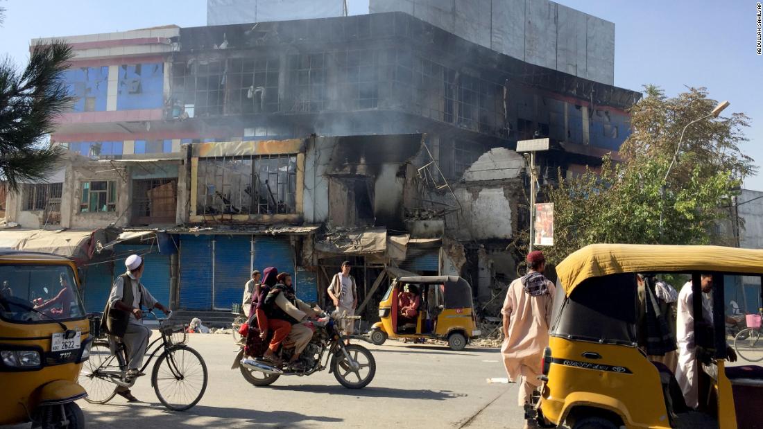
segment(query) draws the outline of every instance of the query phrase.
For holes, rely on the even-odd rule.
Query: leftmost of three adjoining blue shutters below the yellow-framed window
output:
[[[182,309],[212,308],[211,235],[181,236],[179,293]]]

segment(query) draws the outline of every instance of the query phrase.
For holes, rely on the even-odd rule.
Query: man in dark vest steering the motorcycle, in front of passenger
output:
[[[291,286],[291,276],[286,273],[278,274],[278,283],[272,287],[265,298],[265,314],[269,320],[278,319],[291,323],[291,331],[286,337],[288,344],[294,344],[295,350],[289,360],[290,367],[298,367],[297,360],[313,338],[313,330],[303,322],[308,317],[317,317],[318,312],[295,296],[294,287]]]

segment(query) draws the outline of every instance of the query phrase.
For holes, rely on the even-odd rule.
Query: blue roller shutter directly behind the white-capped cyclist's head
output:
[[[169,307],[170,273],[169,256],[159,255],[159,248],[149,245],[116,245],[114,251],[118,255],[114,262],[114,279],[124,274],[124,260],[127,256],[137,254],[143,257],[143,277],[140,283],[156,298],[159,303]],[[149,253],[149,252],[152,253]]]

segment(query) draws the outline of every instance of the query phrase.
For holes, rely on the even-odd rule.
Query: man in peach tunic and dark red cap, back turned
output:
[[[530,271],[514,280],[506,291],[504,308],[504,344],[501,354],[511,381],[520,379],[519,405],[529,404],[539,386],[540,359],[549,345],[554,284],[545,276],[546,258],[541,251],[527,255]],[[525,427],[529,423],[525,424]]]

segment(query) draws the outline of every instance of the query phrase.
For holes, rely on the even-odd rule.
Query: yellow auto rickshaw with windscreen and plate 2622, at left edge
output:
[[[0,424],[85,427],[89,332],[74,261],[0,251]]]

